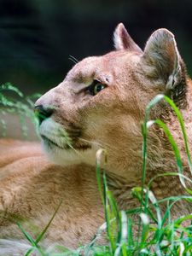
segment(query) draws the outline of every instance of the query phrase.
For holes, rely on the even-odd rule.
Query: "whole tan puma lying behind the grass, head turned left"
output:
[[[96,183],[96,151],[108,150],[108,187],[119,209],[137,206],[131,189],[141,186],[141,124],[148,102],[166,94],[183,113],[192,146],[191,81],[174,36],[155,31],[140,49],[119,24],[114,32],[115,50],[79,61],[61,84],[35,104],[39,119],[39,143],[0,140],[0,212],[2,241],[22,240],[24,230],[37,237],[61,202],[44,236],[44,244],[78,247],[89,242],[104,223],[102,201]],[[171,129],[182,152],[188,174],[183,138],[172,109],[161,101],[150,114]],[[172,147],[157,125],[148,131],[147,182],[164,172],[177,172]],[[183,193],[179,178],[157,177],[154,195]],[[191,212],[187,202],[172,212]],[[3,240],[4,239],[4,240]]]

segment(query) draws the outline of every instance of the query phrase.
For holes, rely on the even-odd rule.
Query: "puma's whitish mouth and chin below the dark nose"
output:
[[[78,137],[71,138],[62,126],[52,119],[46,119],[39,127],[44,153],[49,160],[61,166],[93,162],[96,150],[90,143],[78,143]]]

